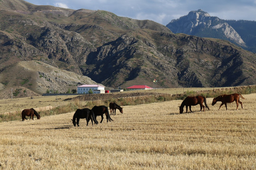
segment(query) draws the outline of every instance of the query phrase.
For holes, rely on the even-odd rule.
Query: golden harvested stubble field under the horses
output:
[[[243,108],[220,102],[179,113],[181,100],[124,106],[114,121],[86,127],[73,113],[0,123],[5,170],[255,170],[256,94]],[[91,108],[90,108],[91,109]],[[185,108],[184,108],[185,110]],[[100,121],[101,117],[97,117]]]

